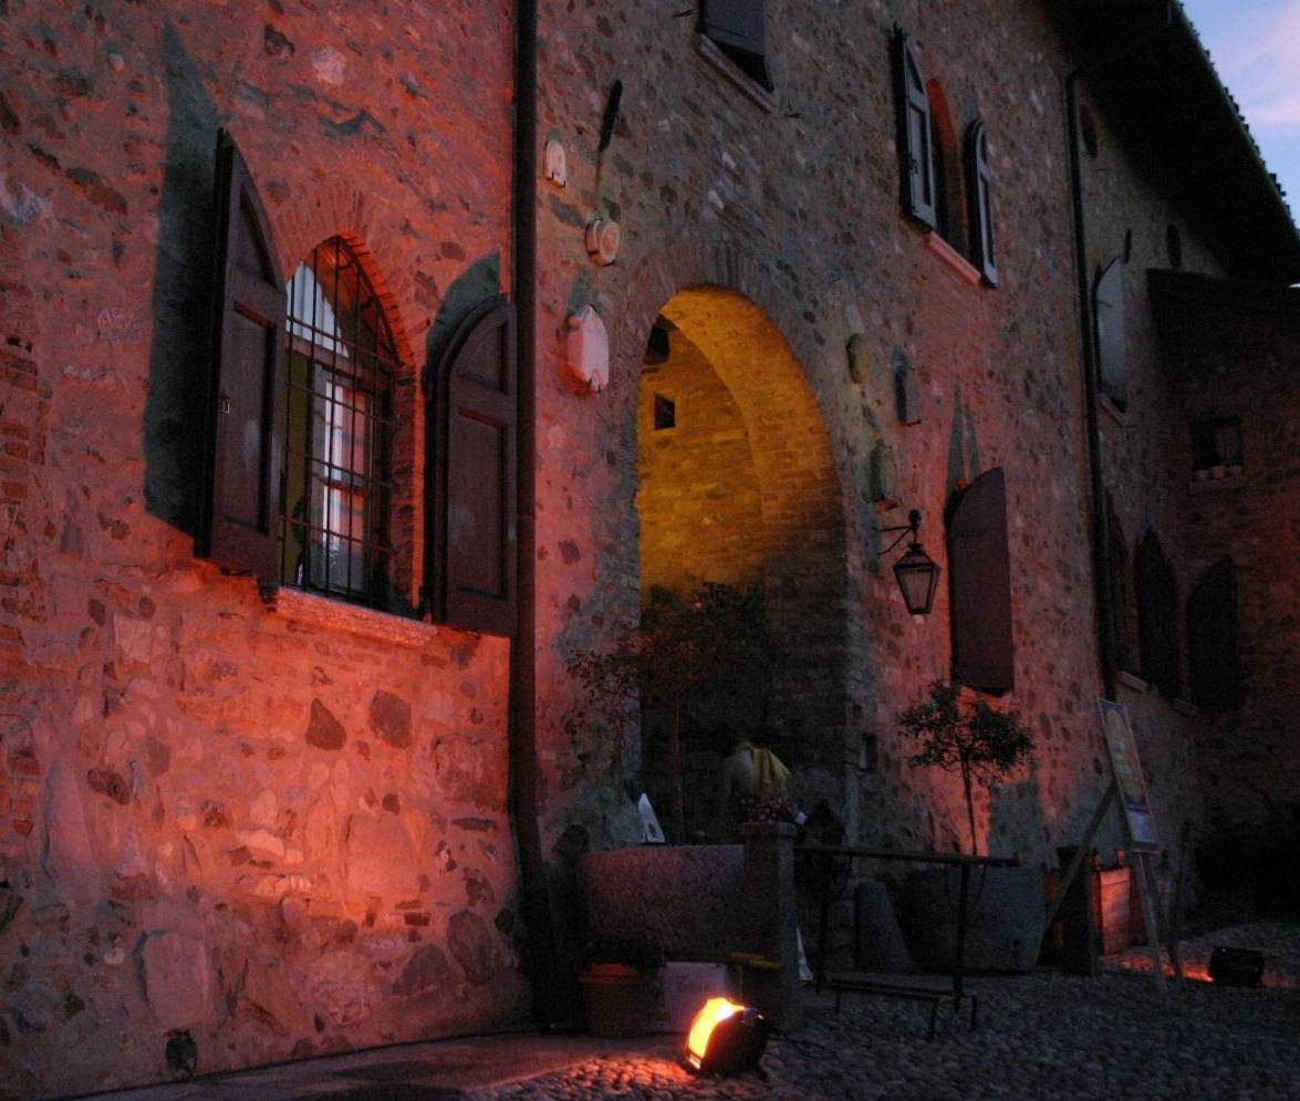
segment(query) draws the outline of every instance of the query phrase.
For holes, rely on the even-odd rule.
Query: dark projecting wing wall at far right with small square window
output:
[[[1290,844],[1300,828],[1300,295],[1187,279],[1164,304],[1165,364],[1180,399],[1174,461],[1188,577],[1225,555],[1236,576],[1242,706],[1209,714],[1201,745],[1212,837]],[[1240,419],[1243,469],[1193,477],[1191,425],[1218,416]]]

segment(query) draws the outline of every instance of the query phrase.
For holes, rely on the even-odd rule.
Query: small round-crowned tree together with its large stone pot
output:
[[[1005,780],[1034,753],[1034,738],[1014,711],[998,711],[984,699],[962,698],[959,685],[935,681],[927,698],[900,716],[904,734],[918,751],[911,764],[940,768],[961,779],[970,851],[979,855],[975,785]],[[910,924],[918,955],[946,970],[957,945],[956,868],[914,872],[909,877]],[[980,868],[968,902],[966,954],[968,967],[1027,971],[1043,940],[1043,879],[1035,867]]]

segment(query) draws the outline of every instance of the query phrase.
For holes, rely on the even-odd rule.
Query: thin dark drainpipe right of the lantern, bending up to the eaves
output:
[[[1097,599],[1097,630],[1101,656],[1101,685],[1106,699],[1117,698],[1115,654],[1117,624],[1112,594],[1114,578],[1110,576],[1110,532],[1106,517],[1106,482],[1101,467],[1101,428],[1097,416],[1097,342],[1092,316],[1092,278],[1088,272],[1088,243],[1086,211],[1083,205],[1083,161],[1079,155],[1079,81],[1149,45],[1174,25],[1174,5],[1165,4],[1165,18],[1160,26],[1147,31],[1123,49],[1082,65],[1065,78],[1066,120],[1070,143],[1070,201],[1074,212],[1075,279],[1079,285],[1079,330],[1083,338],[1083,394],[1086,429],[1088,437],[1088,476],[1092,490],[1092,576]]]

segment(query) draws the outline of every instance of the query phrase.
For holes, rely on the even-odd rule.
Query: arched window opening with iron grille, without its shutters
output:
[[[320,244],[289,282],[280,580],[382,603],[396,350],[356,253]]]

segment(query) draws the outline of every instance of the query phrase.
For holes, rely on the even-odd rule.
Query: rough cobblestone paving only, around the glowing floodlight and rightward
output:
[[[1204,945],[1200,944],[1204,941]],[[637,1058],[592,1059],[562,1074],[482,1091],[497,1098],[1300,1098],[1300,927],[1257,926],[1191,941],[1190,974],[1204,975],[1213,944],[1251,945],[1283,967],[1265,989],[1170,983],[1112,961],[1100,979],[1041,971],[979,979],[980,1027],[949,1010],[926,1039],[919,1005],[846,996],[836,1014],[811,1007],[790,1036],[775,1036],[763,1059],[768,1080],[696,1079],[671,1045]],[[1270,954],[1271,953],[1271,954]],[[1130,953],[1135,959],[1143,950]],[[1140,966],[1140,963],[1138,965]],[[1291,987],[1280,985],[1291,981]]]

